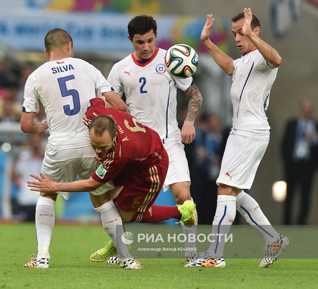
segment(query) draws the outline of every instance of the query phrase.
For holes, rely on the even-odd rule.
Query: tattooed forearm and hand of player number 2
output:
[[[193,83],[184,92],[189,97],[189,105],[188,114],[183,122],[183,126],[181,129],[181,137],[183,143],[191,143],[196,136],[196,132],[194,129],[194,120],[196,119],[202,107],[202,95],[195,83]]]

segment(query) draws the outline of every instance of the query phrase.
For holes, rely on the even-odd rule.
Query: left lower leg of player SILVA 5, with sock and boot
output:
[[[49,267],[49,247],[55,223],[55,202],[58,194],[40,193],[35,209],[35,226],[38,242],[38,254],[33,254],[31,261],[24,264],[29,268]]]

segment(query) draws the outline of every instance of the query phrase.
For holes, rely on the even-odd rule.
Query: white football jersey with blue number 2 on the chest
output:
[[[143,64],[130,54],[114,64],[107,78],[120,97],[125,93],[129,113],[154,129],[163,143],[168,138],[181,140],[176,120],[176,89],[184,91],[193,82],[192,77],[170,76],[163,65],[165,54],[166,50],[157,48]]]

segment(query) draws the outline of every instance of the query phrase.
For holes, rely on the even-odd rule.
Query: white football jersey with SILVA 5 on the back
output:
[[[52,149],[89,146],[83,123],[87,102],[113,88],[101,72],[88,62],[67,57],[47,61],[28,77],[24,88],[23,112],[45,108]]]

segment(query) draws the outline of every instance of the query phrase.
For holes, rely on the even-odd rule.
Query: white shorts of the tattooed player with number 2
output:
[[[169,157],[169,167],[166,179],[163,183],[163,191],[169,189],[170,184],[190,182],[188,161],[181,140],[171,140],[163,144]]]

